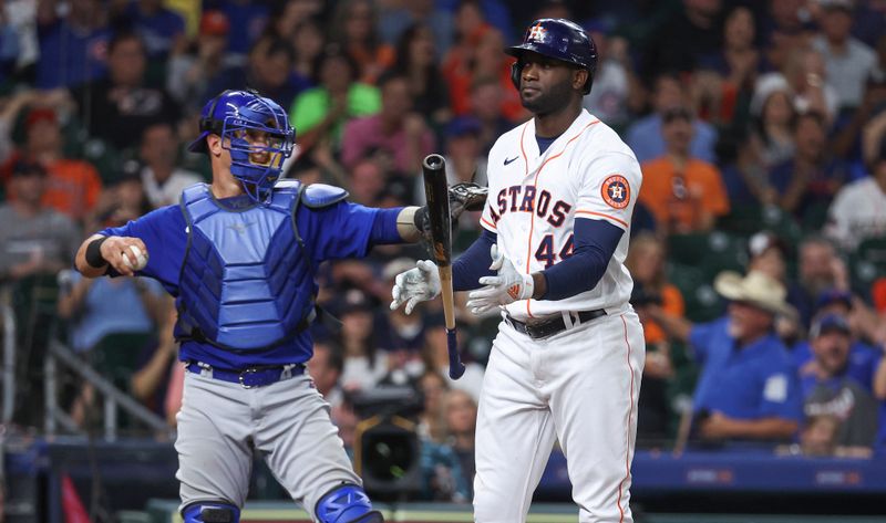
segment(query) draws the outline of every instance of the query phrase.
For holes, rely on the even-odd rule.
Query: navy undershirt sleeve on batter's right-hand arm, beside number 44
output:
[[[539,300],[564,300],[597,286],[624,232],[608,221],[577,218],[573,255],[542,271],[547,292]]]

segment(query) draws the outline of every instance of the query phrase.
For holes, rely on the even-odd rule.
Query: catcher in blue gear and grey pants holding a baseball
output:
[[[188,370],[175,443],[184,521],[239,521],[258,451],[315,522],[381,522],[305,374],[315,273],[324,260],[418,240],[426,210],[372,209],[344,201],[343,189],[278,181],[295,130],[254,92],[209,101],[200,130],[190,150],[209,156],[212,185],[100,231],[76,254],[85,276],[150,276],[176,299]]]

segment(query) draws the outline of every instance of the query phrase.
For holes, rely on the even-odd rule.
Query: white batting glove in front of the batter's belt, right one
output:
[[[474,314],[483,314],[518,300],[528,300],[535,292],[532,274],[517,272],[511,260],[498,252],[498,245],[492,245],[490,254],[492,254],[490,269],[498,271],[498,275],[481,278],[480,283],[486,286],[467,295],[467,310]]]

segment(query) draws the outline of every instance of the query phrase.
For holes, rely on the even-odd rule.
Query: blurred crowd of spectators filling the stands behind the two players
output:
[[[543,17],[594,35],[585,106],[642,166],[628,259],[647,339],[640,446],[884,448],[886,4],[874,0],[7,0],[0,278],[19,325],[16,421],[40,422],[56,336],[175,423],[172,302],[155,282],[70,266],[85,236],[207,180],[183,148],[208,98],[251,87],[288,108],[290,178],[369,206],[421,203],[425,155],[446,156],[450,182],[484,184],[492,144],[529,116],[502,49]],[[456,250],[477,218],[462,217]],[[393,276],[425,257],[388,245],[321,268],[329,314],[309,370],[349,444],[354,395],[413,387],[425,496],[467,500],[498,318],[460,310],[467,373],[450,380],[439,304],[387,307]],[[89,427],[94,391],[74,389],[66,408]]]

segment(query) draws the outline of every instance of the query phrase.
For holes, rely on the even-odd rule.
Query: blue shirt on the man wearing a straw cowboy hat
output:
[[[696,411],[720,411],[736,419],[802,419],[802,398],[787,349],[774,334],[738,347],[729,317],[696,325],[689,342],[703,365],[696,387]]]

